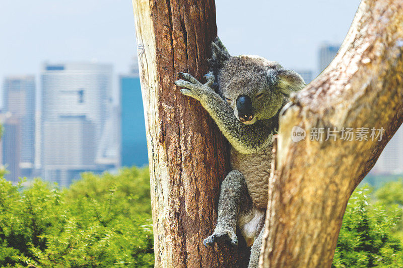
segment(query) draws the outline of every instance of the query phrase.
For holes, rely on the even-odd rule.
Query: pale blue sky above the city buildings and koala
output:
[[[359,2],[216,0],[218,34],[233,55],[316,71],[318,46],[343,41]],[[38,75],[46,60],[98,60],[124,73],[136,53],[131,1],[0,0],[0,40],[1,80]]]

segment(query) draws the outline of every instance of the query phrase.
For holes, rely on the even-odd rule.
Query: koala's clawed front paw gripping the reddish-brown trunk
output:
[[[175,81],[175,84],[177,86],[185,87],[180,90],[183,95],[201,101],[204,96],[207,96],[209,93],[213,92],[212,88],[210,87],[214,82],[213,74],[208,73],[205,75],[207,78],[207,83],[205,84],[200,83],[196,78],[188,73],[180,72],[179,74],[182,75],[185,80],[177,80]]]

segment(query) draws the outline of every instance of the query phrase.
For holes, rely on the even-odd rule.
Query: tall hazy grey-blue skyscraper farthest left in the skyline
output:
[[[11,113],[14,118],[13,122],[16,120],[19,122],[18,155],[20,159],[17,165],[21,169],[19,175],[30,176],[35,160],[35,77],[31,75],[6,77],[3,84],[3,105],[4,112]],[[5,127],[3,139],[7,144],[7,139],[12,138],[8,130],[14,131],[14,127],[11,125]],[[14,152],[9,153],[14,154]],[[5,159],[7,159],[6,155]],[[10,166],[10,163],[8,164]],[[10,175],[12,176],[12,173]]]

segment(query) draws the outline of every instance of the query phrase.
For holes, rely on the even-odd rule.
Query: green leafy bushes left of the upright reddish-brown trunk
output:
[[[0,179],[0,266],[153,267],[148,169],[84,173],[63,191]]]

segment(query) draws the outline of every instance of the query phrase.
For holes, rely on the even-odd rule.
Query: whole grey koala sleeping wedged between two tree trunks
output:
[[[238,228],[251,246],[249,267],[257,267],[268,201],[272,137],[278,130],[281,108],[305,82],[276,61],[231,56],[218,37],[211,48],[205,84],[188,73],[179,73],[184,79],[175,81],[184,87],[180,90],[183,95],[200,102],[231,145],[232,171],[221,184],[217,226],[204,244],[229,240],[237,245]]]

